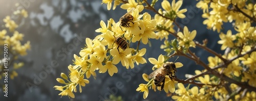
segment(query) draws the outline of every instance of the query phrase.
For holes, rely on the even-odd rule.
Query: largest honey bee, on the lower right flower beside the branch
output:
[[[176,65],[174,62],[166,62],[161,68],[158,68],[156,71],[152,72],[148,75],[148,79],[154,78],[154,82],[156,86],[161,86],[161,90],[164,87],[165,76],[168,75],[170,79],[174,79],[176,73]],[[162,84],[161,84],[162,82]]]

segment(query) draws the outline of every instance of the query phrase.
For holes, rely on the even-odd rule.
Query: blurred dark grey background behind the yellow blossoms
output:
[[[151,3],[151,1],[149,1]],[[156,5],[156,9],[161,8]],[[172,1],[169,1],[170,3]],[[202,43],[204,39],[208,39],[207,46],[210,49],[222,53],[220,45],[217,44],[219,35],[217,32],[206,29],[203,25],[202,11],[196,8],[198,1],[184,0],[182,9],[186,8],[185,19],[177,19],[180,26],[188,26],[189,31],[197,30],[196,41]],[[15,6],[18,3],[19,6]],[[152,72],[152,64],[148,58],[158,58],[160,54],[165,52],[160,49],[163,41],[150,40],[152,47],[141,45],[140,49],[145,47],[147,52],[144,58],[146,64],[136,65],[133,70],[125,69],[118,64],[118,73],[111,77],[108,73],[97,73],[96,80],[92,77],[90,83],[86,87],[82,87],[82,92],[76,92],[75,98],[58,95],[60,91],[55,90],[53,86],[61,85],[56,81],[60,78],[60,73],[68,74],[68,65],[73,63],[73,55],[79,54],[81,48],[84,47],[85,39],[94,39],[100,33],[95,29],[100,27],[100,20],[105,23],[110,18],[118,22],[120,17],[126,13],[126,10],[117,6],[116,10],[106,10],[106,5],[101,5],[100,0],[13,0],[0,1],[0,30],[3,29],[4,19],[7,15],[12,15],[14,11],[23,8],[28,11],[28,17],[21,19],[16,30],[24,33],[24,42],[30,41],[31,50],[27,51],[26,56],[19,56],[18,60],[23,61],[25,65],[16,72],[18,76],[8,81],[8,98],[4,97],[2,89],[0,90],[0,100],[108,100],[110,94],[121,96],[123,100],[172,100],[167,97],[164,91],[154,92],[149,90],[149,95],[143,99],[143,93],[136,91],[141,83],[146,83],[142,74],[150,74]],[[113,6],[113,4],[112,4]],[[155,13],[149,12],[154,17]],[[15,19],[15,18],[14,18]],[[231,25],[225,25],[229,28]],[[224,32],[226,32],[224,30]],[[173,39],[169,36],[169,40]],[[2,50],[1,50],[2,52]],[[200,48],[193,49],[203,61],[207,62],[208,54]],[[2,59],[3,56],[0,56]],[[171,58],[174,61],[177,57]],[[185,79],[185,74],[195,74],[195,70],[202,70],[202,66],[197,65],[194,61],[179,57],[177,62],[182,62],[184,66],[177,70],[177,78]],[[1,80],[0,84],[3,84]]]

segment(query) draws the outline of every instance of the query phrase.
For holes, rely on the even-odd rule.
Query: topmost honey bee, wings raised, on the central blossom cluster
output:
[[[132,21],[134,19],[134,17],[130,14],[132,13],[132,11],[134,10],[134,8],[132,10],[130,10],[129,12],[127,12],[126,14],[124,14],[121,18],[120,18],[120,28],[122,29],[121,26],[123,27],[131,27],[130,26],[130,22],[132,22],[134,24],[134,22]],[[123,30],[123,29],[122,29]]]

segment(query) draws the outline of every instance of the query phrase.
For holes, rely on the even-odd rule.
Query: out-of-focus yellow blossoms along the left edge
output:
[[[15,13],[20,12],[20,13]],[[17,10],[14,14],[22,14],[23,17],[27,17],[27,11],[26,10]],[[10,78],[14,79],[14,77],[18,76],[18,73],[15,71],[19,68],[21,68],[24,63],[23,62],[16,62],[15,60],[18,58],[18,56],[25,56],[27,55],[27,50],[30,49],[30,42],[27,41],[27,43],[22,44],[24,34],[19,33],[16,28],[18,27],[18,24],[16,24],[15,20],[12,20],[10,16],[6,16],[3,21],[5,22],[5,27],[3,29],[0,29],[0,46],[6,47],[8,49],[8,66],[10,67]],[[6,28],[9,28],[7,30]],[[4,49],[3,49],[4,50]],[[4,52],[1,52],[4,53]],[[3,55],[3,54],[2,54]],[[4,70],[4,62],[0,61],[0,71]],[[3,72],[3,71],[2,71]],[[2,74],[4,76],[4,74]],[[2,78],[2,75],[0,75],[0,79]]]

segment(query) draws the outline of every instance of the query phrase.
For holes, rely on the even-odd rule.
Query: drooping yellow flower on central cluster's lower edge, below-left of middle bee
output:
[[[108,70],[110,76],[118,72],[116,65],[112,64],[112,61],[107,61],[103,68],[99,70],[99,73],[105,73],[106,70]]]

